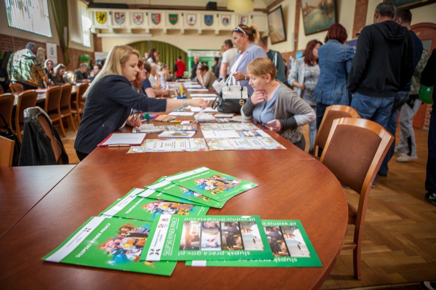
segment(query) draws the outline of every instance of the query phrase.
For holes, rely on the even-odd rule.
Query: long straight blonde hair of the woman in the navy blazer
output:
[[[95,77],[91,85],[86,89],[83,96],[88,95],[91,88],[104,76],[119,75],[122,76],[122,68],[131,55],[136,55],[139,59],[139,52],[128,45],[115,45],[107,55],[106,61],[99,74]]]

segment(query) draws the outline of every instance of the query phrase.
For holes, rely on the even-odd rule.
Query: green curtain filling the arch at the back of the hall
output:
[[[148,52],[150,49],[156,49],[161,55],[159,61],[168,64],[171,72],[174,72],[174,64],[179,55],[182,56],[182,61],[186,64],[186,69],[188,67],[188,54],[172,44],[161,41],[138,41],[130,43],[129,46],[139,51],[141,57],[144,57],[144,53]]]

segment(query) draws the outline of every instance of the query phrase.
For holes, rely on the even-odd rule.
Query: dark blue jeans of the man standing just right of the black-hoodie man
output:
[[[394,142],[390,146],[389,150],[386,153],[386,156],[383,159],[383,162],[380,166],[379,173],[382,175],[387,175],[387,171],[389,170],[387,163],[394,156],[395,150],[395,132],[397,131],[397,120],[398,115],[400,115],[401,107],[406,103],[409,98],[410,92],[408,91],[399,91],[395,93],[394,96],[394,105],[392,107],[392,111],[390,112],[390,116],[386,125],[386,130],[390,134],[394,136]],[[376,177],[377,180],[377,177]]]

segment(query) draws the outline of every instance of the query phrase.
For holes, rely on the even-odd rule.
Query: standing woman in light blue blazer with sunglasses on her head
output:
[[[255,45],[259,39],[259,32],[255,26],[239,24],[232,32],[233,43],[239,53],[236,55],[230,69],[230,84],[241,84],[247,87],[248,94],[253,94],[253,88],[249,85],[250,77],[247,74],[248,64],[259,57],[268,57],[262,47]]]

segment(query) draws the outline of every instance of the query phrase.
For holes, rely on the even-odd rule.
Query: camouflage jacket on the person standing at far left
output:
[[[30,50],[24,49],[11,55],[8,62],[9,79],[13,82],[42,87],[47,77],[42,71],[41,61]]]

